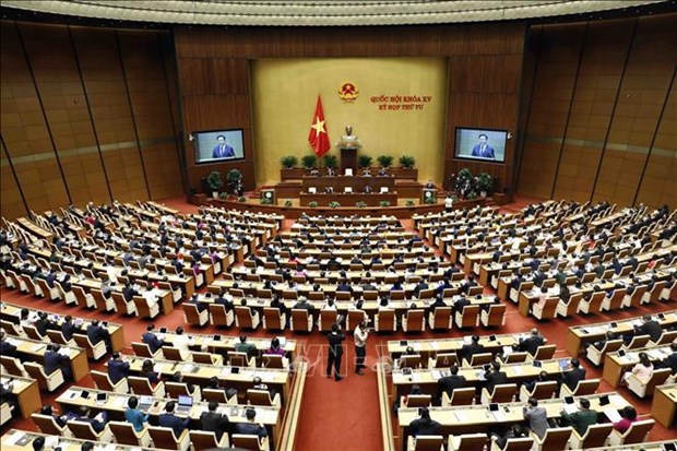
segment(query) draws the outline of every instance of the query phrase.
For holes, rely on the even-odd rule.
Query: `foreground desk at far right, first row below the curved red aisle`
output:
[[[677,324],[677,310],[670,310],[663,313],[664,319],[657,319],[663,329]],[[616,327],[611,327],[615,322]],[[584,351],[585,345],[603,340],[607,331],[611,331],[618,336],[633,332],[634,324],[641,324],[642,318],[628,318],[619,321],[597,322],[594,324],[573,325],[567,331],[567,352],[572,356],[578,356]]]

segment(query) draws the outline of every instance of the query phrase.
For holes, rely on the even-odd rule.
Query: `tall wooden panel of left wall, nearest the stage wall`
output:
[[[159,37],[120,29],[118,40],[150,195],[161,199],[180,194],[178,133],[168,95],[176,87],[167,86]]]

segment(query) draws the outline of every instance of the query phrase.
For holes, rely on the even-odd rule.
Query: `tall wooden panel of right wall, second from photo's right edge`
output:
[[[634,200],[675,70],[674,28],[669,17],[637,25],[593,200]]]

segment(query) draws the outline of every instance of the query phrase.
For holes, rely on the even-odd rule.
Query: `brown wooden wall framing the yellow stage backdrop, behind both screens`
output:
[[[331,57],[448,57],[446,176],[461,167],[486,170],[502,185],[512,185],[514,144],[508,145],[506,165],[453,159],[456,127],[487,127],[514,132],[525,25],[520,23],[420,27],[355,28],[241,28],[175,29],[181,90],[182,129],[187,132],[244,128],[251,145],[249,62],[257,58]],[[482,36],[482,38],[478,38]],[[227,108],[228,114],[223,115]],[[248,150],[252,147],[247,147]],[[192,165],[192,150],[183,157],[190,187],[211,170],[245,171],[246,188],[253,188],[254,152],[245,162]],[[264,158],[264,155],[256,155]]]

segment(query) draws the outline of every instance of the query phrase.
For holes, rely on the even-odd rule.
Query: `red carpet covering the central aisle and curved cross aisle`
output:
[[[501,209],[504,212],[513,212],[521,209],[526,202],[533,202],[537,200],[521,199],[519,202],[506,205]],[[167,199],[164,200],[167,206],[181,210],[185,213],[197,213],[198,209],[193,205],[187,204],[183,199]],[[290,221],[285,222],[285,227],[292,224]],[[411,227],[411,221],[404,222],[406,227]],[[491,292],[490,289],[486,289]],[[2,300],[19,305],[24,305],[32,308],[44,309],[46,311],[52,311],[57,313],[70,313],[76,317],[83,318],[100,318],[103,313],[98,311],[87,311],[80,308],[66,307],[62,302],[50,302],[47,300],[40,300],[33,298],[32,296],[21,295],[16,292],[9,292],[4,288],[0,290]],[[538,328],[543,335],[547,337],[550,343],[557,344],[558,353],[556,356],[566,356],[565,349],[566,329],[573,324],[580,324],[585,322],[599,322],[618,320],[628,317],[637,317],[648,312],[658,312],[669,309],[675,309],[676,299],[672,299],[672,302],[657,304],[651,308],[641,307],[630,311],[617,311],[613,314],[596,314],[590,319],[583,319],[575,317],[569,320],[549,321],[538,323],[532,318],[523,318],[519,314],[516,307],[513,304],[508,305],[508,312],[506,319],[506,325],[499,330],[485,330],[476,328],[470,333],[490,334],[490,333],[518,333],[528,331],[531,328]],[[107,316],[107,320],[111,322],[124,324],[124,339],[128,348],[126,354],[131,354],[131,342],[140,339],[141,334],[145,331],[147,321],[138,318],[123,318],[119,314]],[[175,309],[168,316],[161,317],[155,322],[156,327],[167,327],[174,329],[178,325],[183,325],[183,313],[180,309]],[[188,332],[212,334],[215,332],[237,335],[237,330],[218,331],[213,327],[193,328],[188,327]],[[251,333],[252,336],[266,336],[272,335],[263,330]],[[304,345],[302,354],[308,358],[310,363],[310,370],[308,372],[306,391],[304,393],[301,414],[299,417],[299,426],[297,432],[297,449],[298,450],[379,450],[382,449],[381,442],[381,419],[378,406],[378,388],[376,373],[371,370],[367,370],[365,376],[357,376],[354,373],[354,346],[353,339],[348,335],[346,340],[346,355],[342,365],[342,372],[346,376],[341,382],[335,382],[333,379],[328,379],[324,376],[324,369],[326,365],[325,354],[325,337],[319,332],[312,332],[309,335],[293,334],[285,332],[285,336],[297,340],[300,345]],[[459,331],[451,331],[448,333],[430,333],[425,332],[419,335],[407,334],[406,337],[412,339],[429,339],[429,337],[443,337],[443,336],[461,336]],[[389,340],[404,339],[403,333],[395,333],[389,335],[371,334],[368,342],[367,353],[367,366],[373,367],[380,355],[387,354],[387,342]],[[299,347],[300,348],[300,347]],[[583,366],[587,369],[589,378],[601,378],[602,371],[593,368],[586,360],[582,360]],[[346,365],[347,363],[347,365]],[[92,369],[103,367],[103,364],[90,364]],[[94,387],[91,378],[86,378],[80,384],[86,387]],[[610,388],[606,382],[602,382],[601,391],[609,391]],[[57,397],[63,390],[58,391],[55,395],[47,395],[43,393],[43,402],[49,403]],[[619,389],[619,393],[630,401],[638,410],[640,415],[648,415],[651,410],[651,401],[642,401],[634,394],[628,392],[627,389]],[[393,422],[396,423],[396,422]],[[36,430],[33,422],[31,420],[14,420],[11,423],[12,428],[31,429]],[[396,425],[395,425],[396,427]],[[3,429],[3,432],[7,428]],[[676,430],[667,430],[661,425],[656,424],[650,435],[650,439],[653,440],[666,440],[677,439]]]

